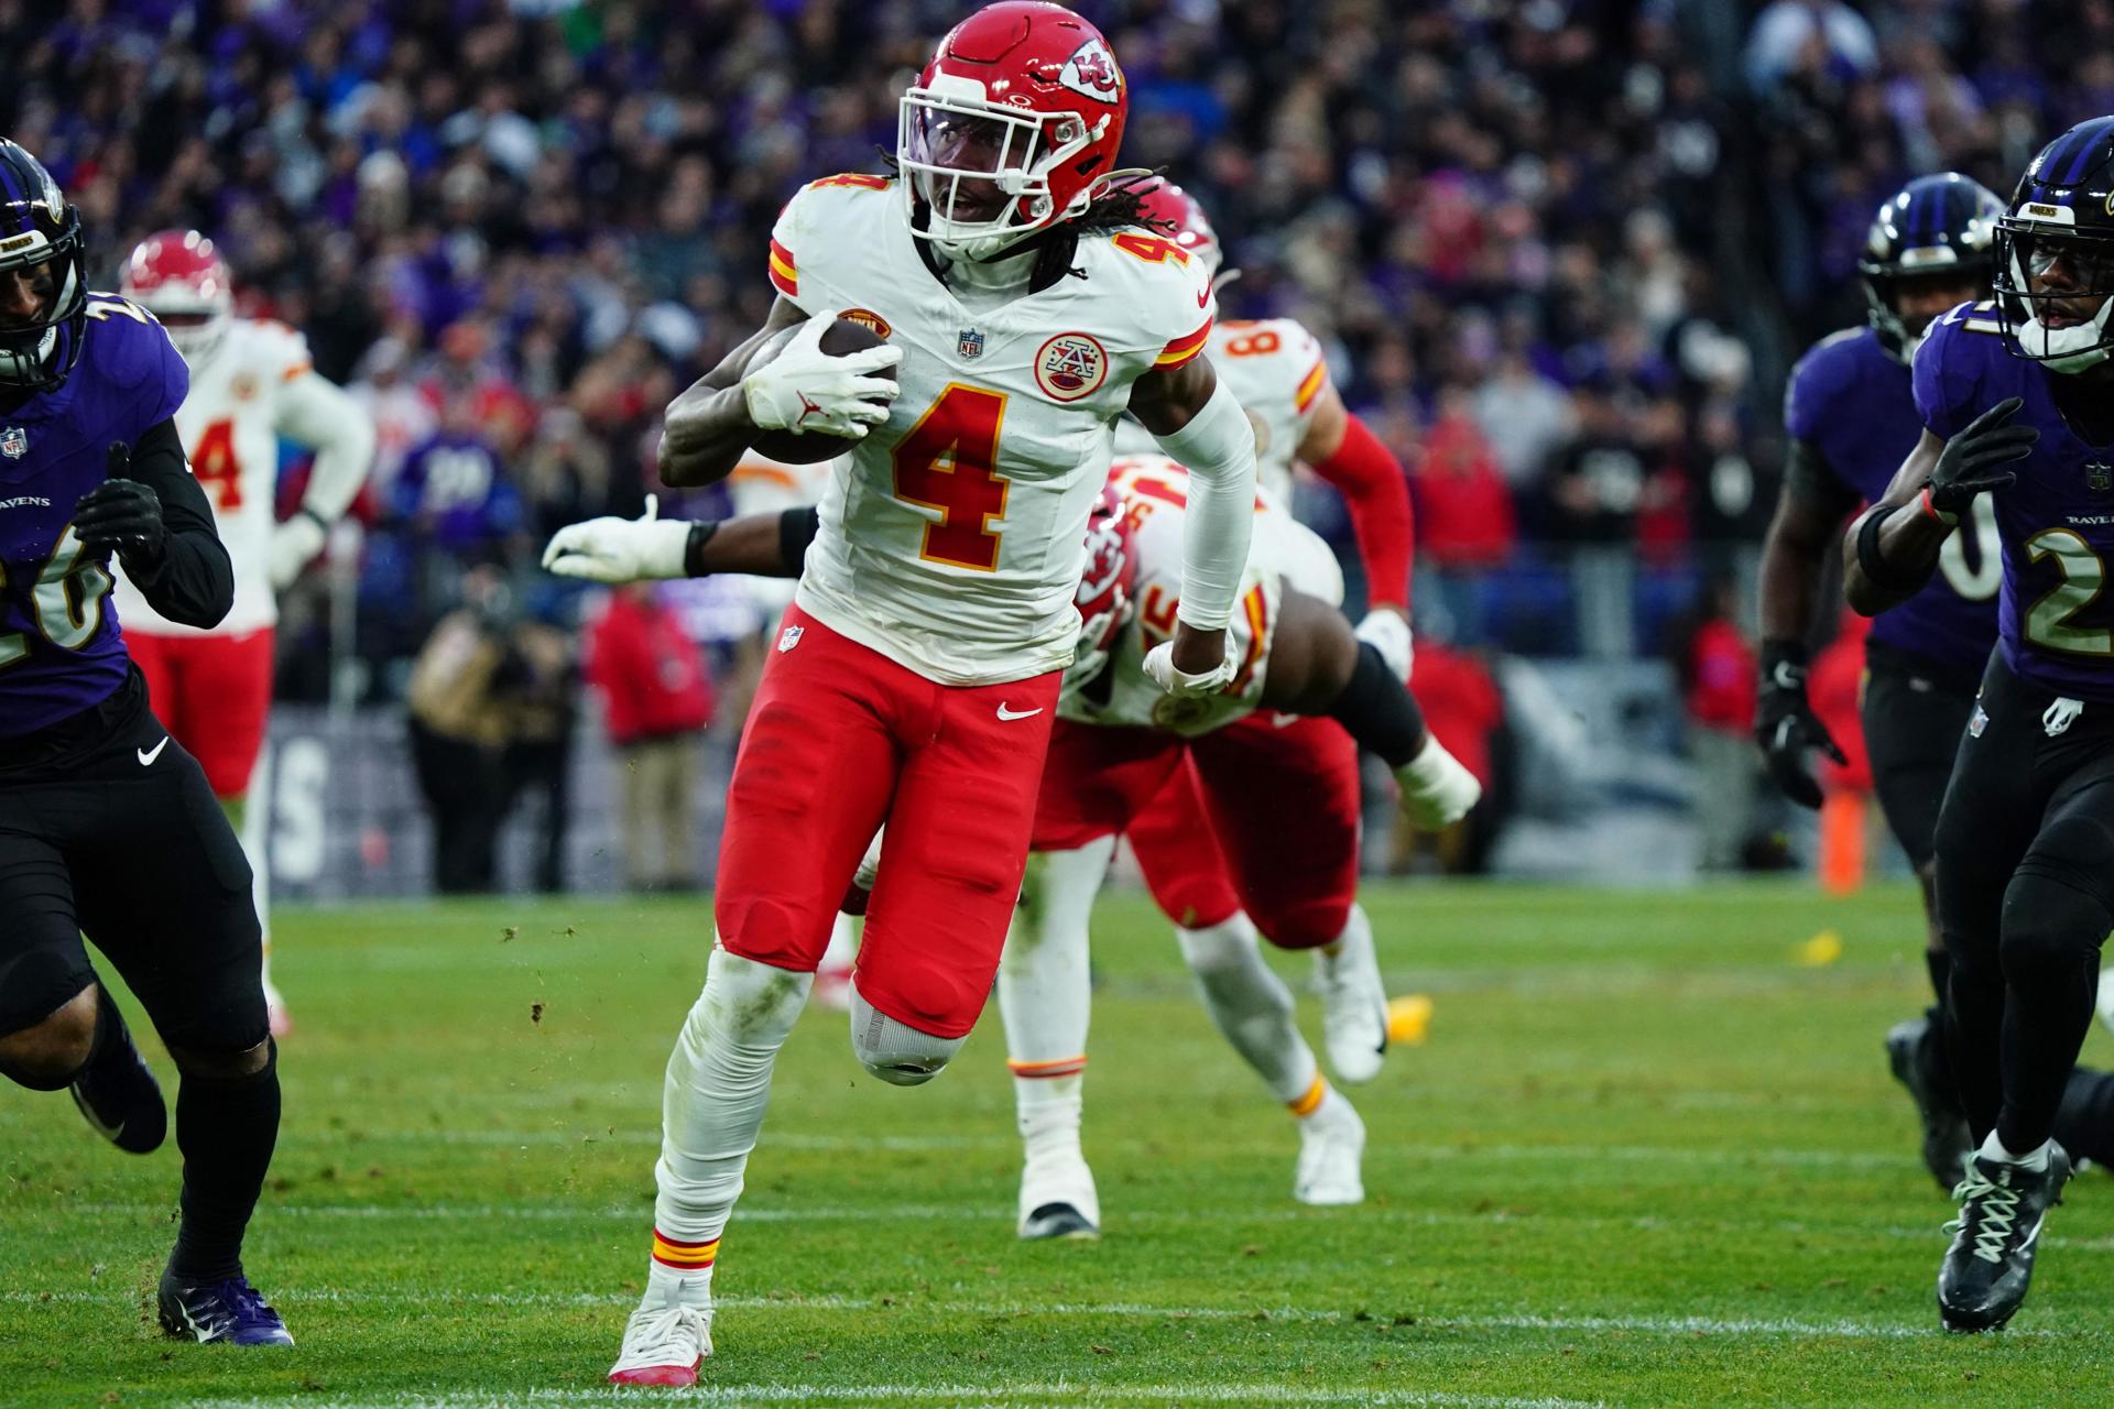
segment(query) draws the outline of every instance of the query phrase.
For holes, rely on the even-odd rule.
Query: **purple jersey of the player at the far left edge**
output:
[[[80,361],[0,412],[0,737],[55,725],[125,684],[110,570],[80,549],[74,505],[184,403],[190,372],[144,308],[89,294]]]

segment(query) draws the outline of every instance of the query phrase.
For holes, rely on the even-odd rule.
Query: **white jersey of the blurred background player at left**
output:
[[[277,401],[279,389],[309,370],[307,338],[264,319],[228,319],[226,336],[190,370],[190,395],[175,412],[175,433],[235,564],[235,604],[220,625],[182,625],[161,617],[116,572],[118,619],[127,634],[239,636],[279,621],[271,589],[271,534],[279,522]]]

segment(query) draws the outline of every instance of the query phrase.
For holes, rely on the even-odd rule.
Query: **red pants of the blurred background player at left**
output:
[[[125,636],[154,718],[199,760],[218,799],[249,792],[271,712],[271,642],[268,625],[241,636]]]

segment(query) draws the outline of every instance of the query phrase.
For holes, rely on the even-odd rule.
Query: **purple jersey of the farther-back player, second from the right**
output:
[[[1820,450],[1848,496],[1877,503],[1915,450],[1924,420],[1909,370],[1886,355],[1879,334],[1856,327],[1820,340],[1791,370],[1784,429]],[[1945,541],[1930,583],[1879,613],[1871,640],[1934,661],[1949,676],[1981,680],[1996,644],[1998,556],[1996,511],[1985,499]]]

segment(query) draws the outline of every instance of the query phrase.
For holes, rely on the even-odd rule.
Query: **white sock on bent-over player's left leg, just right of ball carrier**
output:
[[[1078,1158],[1087,1020],[1093,1008],[1087,919],[1116,839],[1027,858],[1023,904],[998,963],[998,1014],[1027,1160]]]

